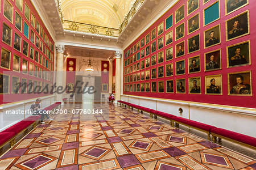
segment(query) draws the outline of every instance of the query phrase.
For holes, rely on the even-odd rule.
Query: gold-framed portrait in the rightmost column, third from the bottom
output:
[[[226,41],[248,35],[249,33],[250,28],[248,10],[242,14],[234,16],[229,20],[226,20]]]

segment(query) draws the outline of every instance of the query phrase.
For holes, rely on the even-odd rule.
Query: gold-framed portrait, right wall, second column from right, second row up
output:
[[[221,50],[214,50],[204,54],[204,71],[214,71],[221,69]]]

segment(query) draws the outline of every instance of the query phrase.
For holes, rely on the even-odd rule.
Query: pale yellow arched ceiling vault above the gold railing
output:
[[[119,28],[135,0],[62,0],[65,20]]]

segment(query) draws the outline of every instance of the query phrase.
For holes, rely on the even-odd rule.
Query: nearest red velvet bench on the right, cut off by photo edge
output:
[[[256,138],[254,137],[250,137],[248,135],[236,133],[234,131],[230,131],[222,128],[213,128],[210,130],[210,134],[212,135],[212,141],[214,143],[216,142],[216,139],[218,137],[219,141],[221,141],[221,138],[222,138],[227,141],[238,143],[239,145],[243,145],[256,150]]]

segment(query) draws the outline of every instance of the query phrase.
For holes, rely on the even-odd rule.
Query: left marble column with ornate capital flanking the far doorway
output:
[[[64,70],[63,70],[63,60],[64,60],[64,45],[56,45],[57,53],[57,64],[56,64],[56,86],[62,86],[65,88],[65,83],[63,82]],[[62,101],[64,94],[55,94],[56,101]]]

